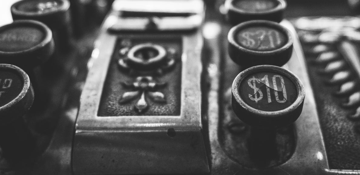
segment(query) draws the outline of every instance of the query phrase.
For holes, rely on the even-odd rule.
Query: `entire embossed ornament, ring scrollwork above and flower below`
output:
[[[117,61],[120,71],[129,71],[130,76],[136,78],[133,82],[123,82],[122,85],[131,89],[121,95],[119,104],[130,103],[138,99],[134,109],[144,113],[149,107],[147,100],[155,103],[166,103],[165,95],[158,91],[166,83],[157,82],[156,77],[171,71],[174,67],[176,50],[165,48],[158,44],[141,43],[135,46],[130,40],[122,40],[119,50],[120,58]]]

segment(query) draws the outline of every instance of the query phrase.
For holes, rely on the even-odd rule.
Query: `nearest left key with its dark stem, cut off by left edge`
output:
[[[8,160],[19,160],[35,150],[35,139],[23,115],[33,104],[34,91],[19,67],[0,64],[0,147]]]

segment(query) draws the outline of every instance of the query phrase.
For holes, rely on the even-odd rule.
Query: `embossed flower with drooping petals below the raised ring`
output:
[[[156,82],[151,76],[139,76],[136,77],[135,82],[133,83],[122,82],[122,85],[127,88],[133,89],[133,91],[124,93],[121,96],[119,103],[125,104],[140,96],[140,99],[135,104],[135,108],[139,111],[139,113],[144,112],[145,109],[148,108],[148,103],[146,101],[145,96],[148,96],[151,100],[153,100],[156,103],[163,103],[166,101],[164,94],[157,91],[157,89],[166,86],[166,83]]]

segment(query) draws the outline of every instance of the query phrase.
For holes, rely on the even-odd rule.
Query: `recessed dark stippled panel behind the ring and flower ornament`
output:
[[[100,101],[98,116],[131,116],[131,115],[162,115],[162,116],[176,116],[180,115],[180,97],[181,97],[181,50],[182,42],[180,36],[163,36],[163,35],[153,35],[153,36],[144,36],[131,38],[118,38],[116,41],[116,46],[112,55],[112,60],[109,66],[108,75],[105,80],[105,85],[103,89],[102,99]],[[167,48],[167,50],[172,50],[174,55],[174,65],[169,68],[170,70],[161,73],[158,72],[146,72],[144,75],[136,75],[130,71],[134,70],[124,70],[120,67],[117,62],[119,59],[122,59],[119,51],[124,49],[121,43],[131,42],[131,46],[136,46],[136,44],[142,43],[151,43],[158,46]],[[131,67],[129,68],[131,69]],[[136,80],[136,77],[151,76],[150,82]],[[154,83],[155,86],[153,89],[149,90],[150,83]],[[144,87],[134,87],[133,84],[144,83]],[[130,87],[127,86],[130,85]],[[159,86],[161,84],[161,86]],[[130,94],[129,100],[123,100],[122,96],[125,93]],[[136,108],[137,103],[141,100],[141,94],[144,93],[144,100],[147,104],[147,109],[144,109],[142,112],[139,112]],[[155,99],[151,96],[154,93],[162,93],[163,98]]]

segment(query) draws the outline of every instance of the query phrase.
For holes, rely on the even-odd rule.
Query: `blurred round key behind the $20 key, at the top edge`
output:
[[[226,0],[225,8],[233,25],[248,20],[280,22],[287,4],[284,0]]]

